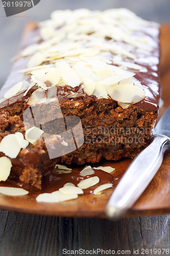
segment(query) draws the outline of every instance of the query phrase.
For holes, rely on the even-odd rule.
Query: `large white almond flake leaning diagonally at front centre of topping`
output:
[[[59,65],[59,70],[62,79],[66,82],[66,84],[68,84],[68,86],[71,86],[72,88],[79,86],[81,80],[76,72],[72,70],[69,65],[61,63]]]

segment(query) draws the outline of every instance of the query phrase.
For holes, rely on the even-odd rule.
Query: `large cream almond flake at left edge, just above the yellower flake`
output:
[[[0,143],[0,152],[10,158],[16,158],[20,152],[20,145],[15,134],[5,136]]]

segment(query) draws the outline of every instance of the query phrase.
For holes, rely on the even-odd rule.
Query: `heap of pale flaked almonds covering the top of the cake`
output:
[[[93,95],[98,98],[107,98],[109,90],[112,90],[110,86],[115,86],[118,82],[133,85],[131,82],[122,81],[134,75],[125,70],[130,68],[144,71],[142,66],[134,62],[142,65],[147,59],[149,64],[156,63],[157,57],[153,57],[154,60],[150,57],[150,52],[157,45],[153,40],[153,34],[158,33],[154,23],[142,20],[122,8],[97,13],[88,11],[85,16],[81,16],[81,12],[78,15],[78,12],[76,14],[70,10],[58,10],[52,15],[53,19],[40,23],[40,33],[44,41],[22,52],[22,56],[34,55],[28,63],[30,68],[20,72],[32,72],[40,69],[39,65],[43,61],[50,61],[55,63],[56,67],[60,67],[62,79],[58,80],[57,76],[52,78],[43,72],[41,74],[35,72],[38,78],[44,76],[43,80],[40,79],[41,82],[54,79],[51,81],[53,85],[60,83],[60,86],[71,87],[83,82],[84,91],[88,95],[94,93]],[[83,15],[84,13],[83,11]],[[67,20],[70,20],[69,24]],[[147,34],[143,34],[143,28]],[[144,58],[143,54],[147,55],[147,58]],[[128,61],[127,57],[131,60]],[[112,65],[113,63],[120,67]],[[48,76],[50,79],[46,79],[49,78]],[[37,82],[38,86],[47,90],[43,83],[41,85],[39,83]],[[137,84],[135,86],[137,87]],[[77,97],[77,93],[71,93],[68,97]]]

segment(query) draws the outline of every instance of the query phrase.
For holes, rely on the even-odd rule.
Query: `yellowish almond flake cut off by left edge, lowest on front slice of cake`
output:
[[[8,176],[10,175],[12,163],[8,157],[1,157],[0,158],[0,181],[6,181]],[[1,188],[1,187],[0,187]]]

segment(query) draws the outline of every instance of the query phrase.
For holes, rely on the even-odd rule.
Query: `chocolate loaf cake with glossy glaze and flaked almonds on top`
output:
[[[127,9],[54,11],[23,42],[1,91],[3,172],[11,168],[21,181],[41,188],[43,172],[59,158],[50,160],[43,140],[28,140],[23,113],[33,106],[42,112],[53,103],[53,116],[58,101],[64,117],[80,117],[84,132],[84,144],[61,156],[62,162],[135,157],[149,144],[158,115],[159,56],[159,25]],[[47,131],[42,123],[43,132],[54,134],[54,122]],[[47,142],[51,150],[63,147],[61,133],[58,125]],[[20,143],[15,157],[2,143],[11,134]]]

